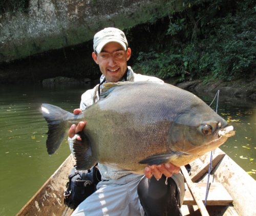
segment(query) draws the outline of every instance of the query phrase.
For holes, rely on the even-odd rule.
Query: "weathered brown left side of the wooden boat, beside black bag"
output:
[[[16,216],[62,215],[66,209],[63,193],[74,164],[74,157],[70,155]]]

